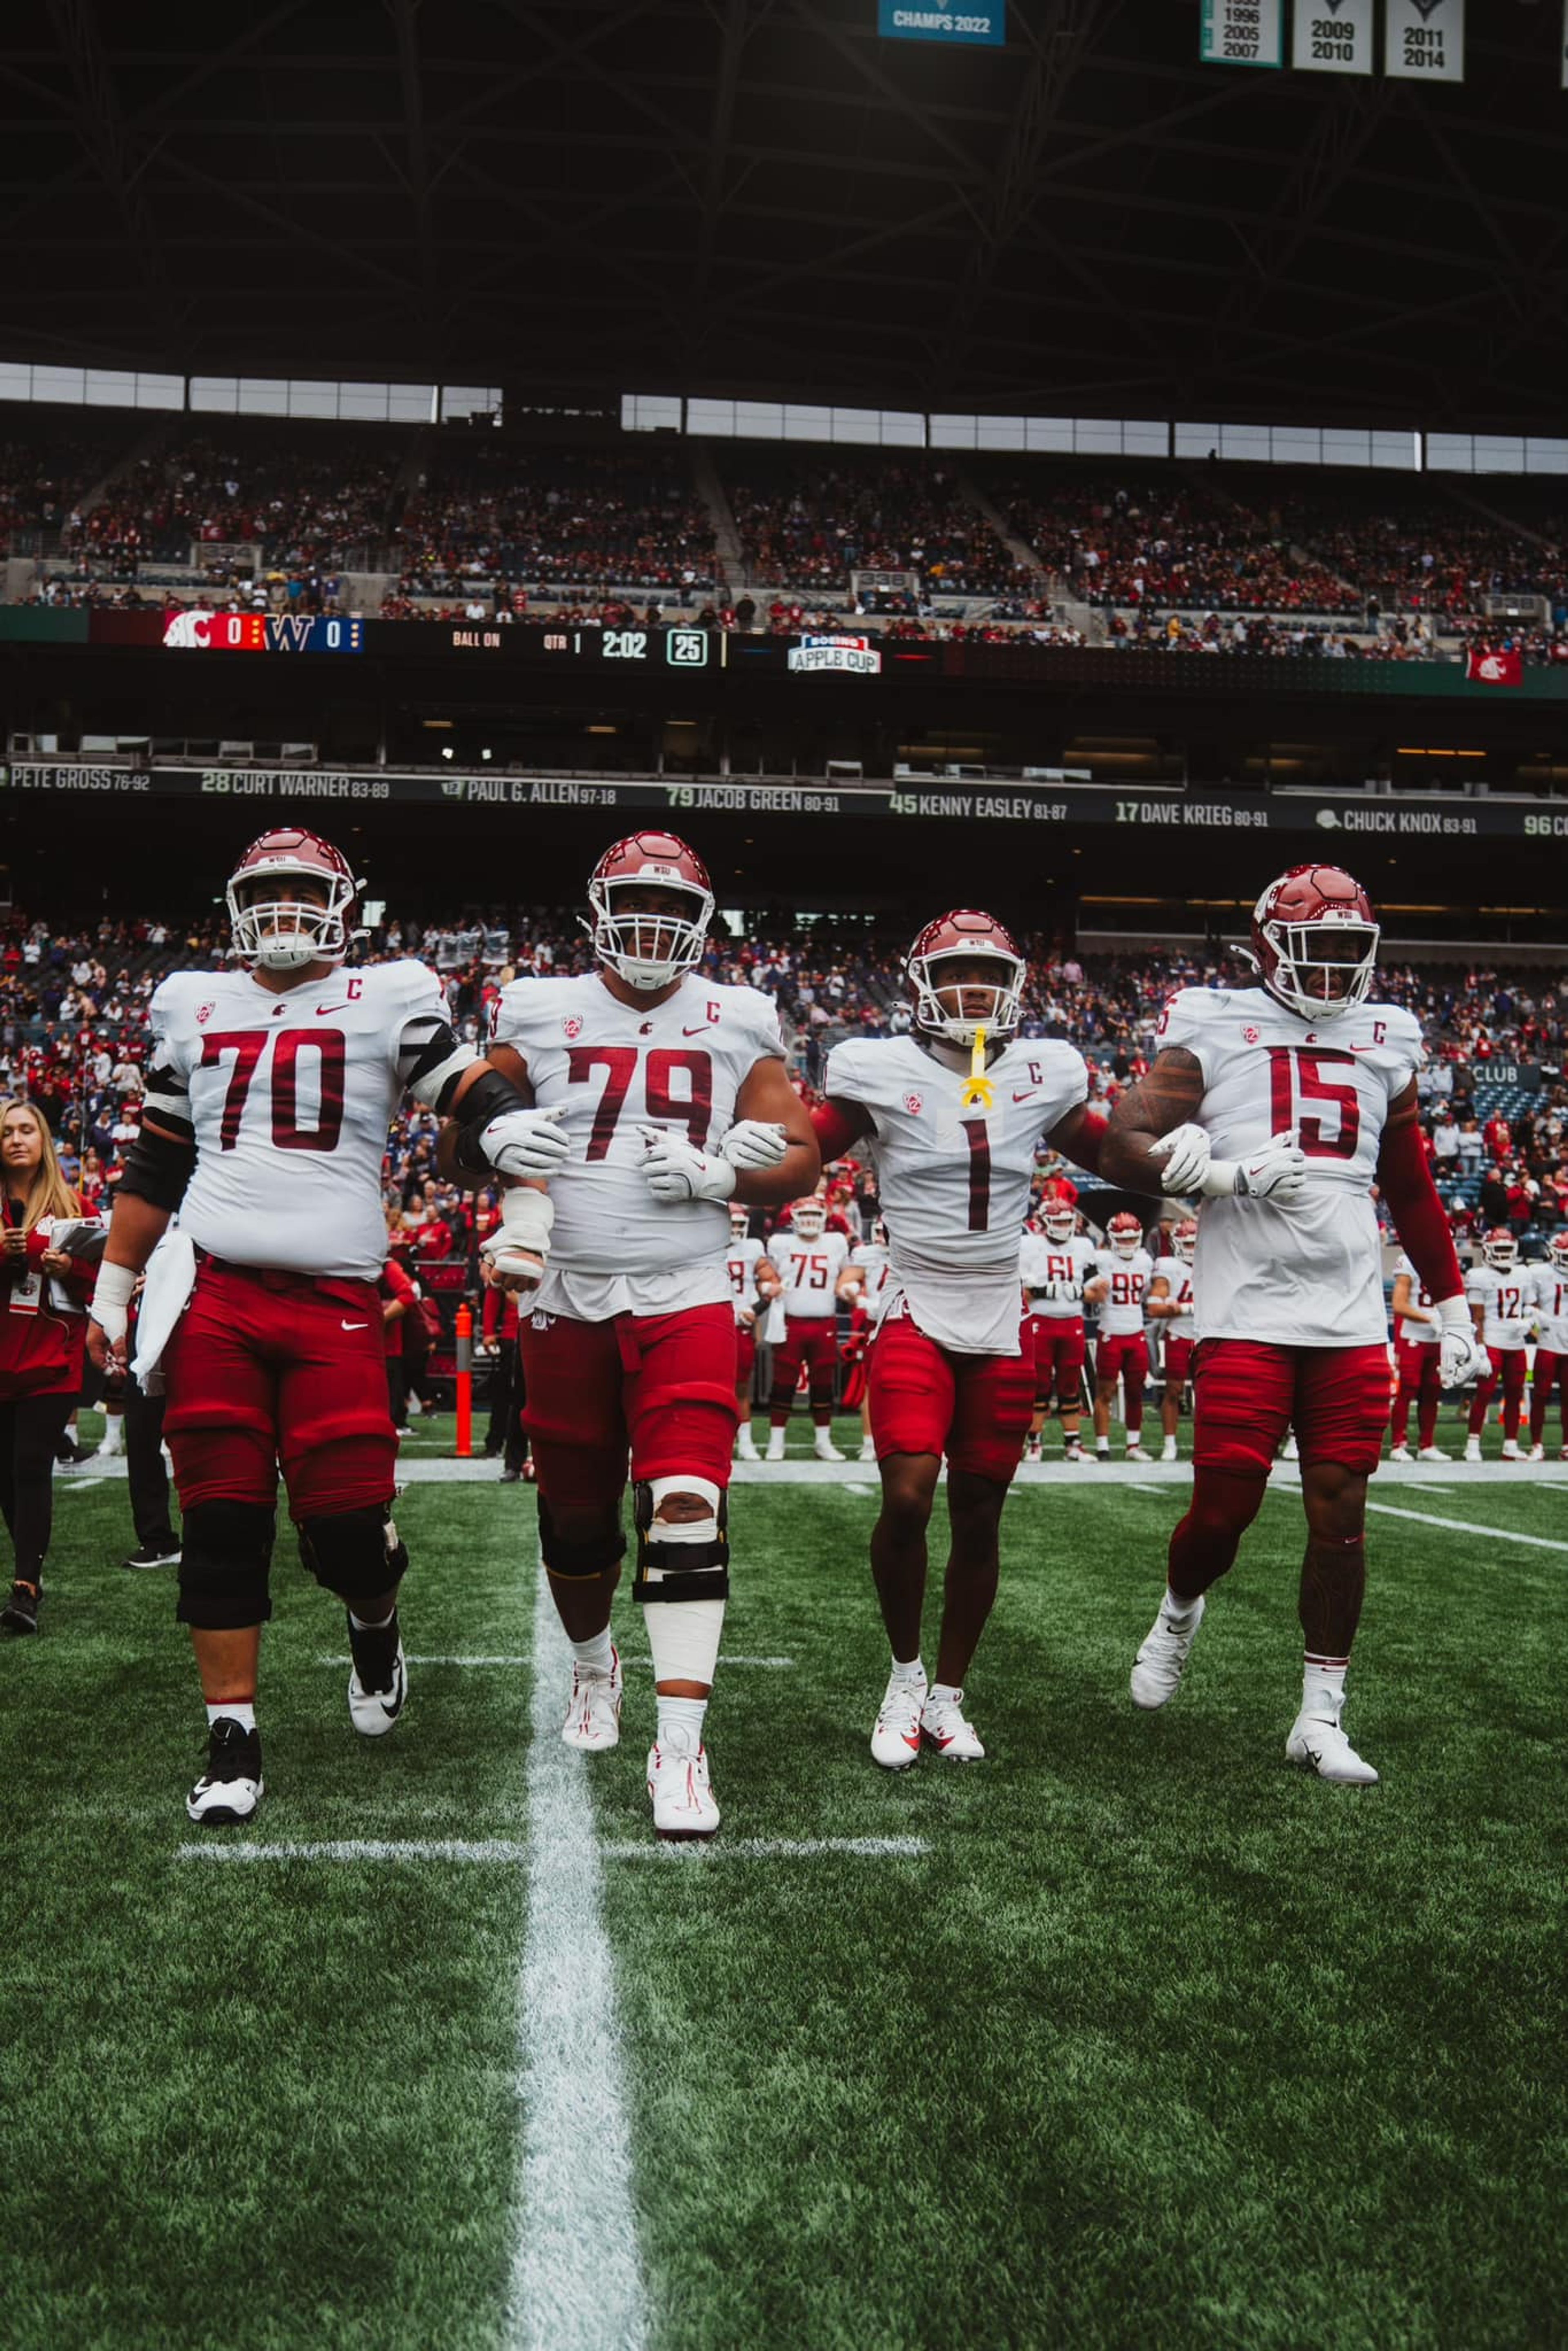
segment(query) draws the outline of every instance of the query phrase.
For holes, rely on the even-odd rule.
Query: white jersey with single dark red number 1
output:
[[[893,1298],[957,1354],[1018,1354],[1018,1241],[1034,1145],[1088,1098],[1070,1044],[1013,1039],[987,1072],[990,1107],[964,1107],[966,1070],[912,1037],[856,1037],[827,1056],[823,1091],[870,1114],[867,1150],[889,1227]]]

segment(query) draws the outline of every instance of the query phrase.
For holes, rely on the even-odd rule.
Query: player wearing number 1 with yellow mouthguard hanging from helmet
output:
[[[1001,1505],[1034,1406],[1018,1288],[1034,1145],[1044,1133],[1093,1168],[1105,1131],[1081,1053],[1018,1039],[1025,964],[992,915],[926,924],[905,978],[912,1034],[835,1046],[811,1114],[823,1159],[867,1145],[893,1260],[870,1354],[872,1575],[893,1650],[872,1756],[889,1768],[914,1763],[922,1742],[964,1763],[985,1754],[964,1676],[997,1596]],[[943,1455],[952,1549],[926,1688],[926,1523]]]

